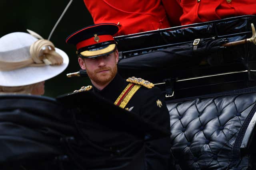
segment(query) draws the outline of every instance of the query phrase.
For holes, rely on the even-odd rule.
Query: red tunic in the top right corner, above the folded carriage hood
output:
[[[165,0],[163,0],[165,1]],[[255,15],[256,0],[170,0],[165,8],[180,4],[183,14],[178,8],[170,18],[180,18],[181,25],[200,23],[223,18]],[[167,12],[168,13],[168,12]]]

